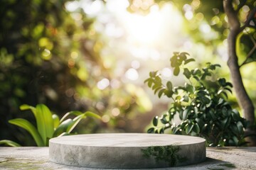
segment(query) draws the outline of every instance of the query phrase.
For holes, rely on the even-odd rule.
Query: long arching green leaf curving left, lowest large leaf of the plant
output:
[[[13,125],[17,125],[23,129],[27,130],[32,135],[32,137],[35,140],[36,145],[38,145],[38,147],[45,146],[41,135],[38,133],[36,128],[30,122],[28,122],[28,120],[25,120],[22,118],[16,118],[16,119],[9,120],[9,123],[11,123]]]

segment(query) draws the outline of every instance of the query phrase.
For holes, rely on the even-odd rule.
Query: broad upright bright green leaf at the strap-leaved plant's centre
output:
[[[47,139],[53,137],[54,125],[52,113],[47,106],[38,104],[36,106],[36,124],[38,132],[46,145]]]

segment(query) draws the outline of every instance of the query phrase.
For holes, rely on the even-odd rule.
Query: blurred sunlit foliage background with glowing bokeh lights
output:
[[[0,13],[0,140],[34,145],[27,132],[8,123],[17,117],[35,122],[19,111],[23,103],[44,103],[60,116],[71,110],[102,116],[83,121],[79,133],[145,132],[169,100],[156,100],[144,79],[159,68],[172,79],[166,61],[174,51],[197,57],[198,67],[220,63],[220,74],[229,77],[222,1],[2,0]],[[240,63],[255,38],[255,30],[241,35]],[[255,62],[241,70],[255,103]]]

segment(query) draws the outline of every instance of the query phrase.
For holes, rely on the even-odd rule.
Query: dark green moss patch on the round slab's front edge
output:
[[[154,157],[156,162],[164,161],[169,164],[169,166],[175,166],[178,162],[185,161],[185,157],[180,157],[178,151],[181,148],[174,145],[168,146],[156,146],[156,147],[147,147],[142,149],[144,157],[150,158]]]

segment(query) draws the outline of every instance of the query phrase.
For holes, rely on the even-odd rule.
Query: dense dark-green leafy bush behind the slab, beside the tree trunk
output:
[[[170,129],[178,135],[204,137],[210,146],[243,145],[247,123],[227,101],[232,84],[215,77],[214,70],[220,65],[207,63],[203,69],[189,69],[187,64],[194,60],[186,52],[174,52],[170,61],[174,76],[182,72],[186,83],[173,86],[167,81],[165,85],[161,74],[150,72],[145,81],[148,86],[159,98],[164,95],[173,102],[167,113],[153,119],[154,127],[148,132],[164,133]]]

